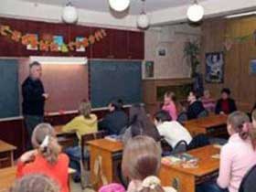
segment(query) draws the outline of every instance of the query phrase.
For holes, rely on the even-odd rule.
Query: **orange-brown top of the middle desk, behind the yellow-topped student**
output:
[[[112,153],[123,150],[123,144],[121,142],[110,141],[108,139],[97,139],[88,142],[91,146],[99,147],[103,150],[110,151]]]

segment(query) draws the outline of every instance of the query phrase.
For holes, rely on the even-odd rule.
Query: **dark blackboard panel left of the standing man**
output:
[[[19,116],[16,59],[0,59],[0,88],[0,118]]]

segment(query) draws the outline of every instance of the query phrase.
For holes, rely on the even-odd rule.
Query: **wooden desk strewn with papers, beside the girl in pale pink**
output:
[[[177,192],[196,192],[196,185],[218,175],[219,148],[208,145],[187,152],[199,159],[197,168],[183,168],[181,165],[161,165],[160,179],[163,186],[172,186]]]

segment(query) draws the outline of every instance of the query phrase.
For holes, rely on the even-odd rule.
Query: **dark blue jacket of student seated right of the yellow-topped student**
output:
[[[108,134],[117,134],[127,126],[128,117],[123,110],[115,110],[108,113],[105,118],[98,124],[100,130],[106,130]]]

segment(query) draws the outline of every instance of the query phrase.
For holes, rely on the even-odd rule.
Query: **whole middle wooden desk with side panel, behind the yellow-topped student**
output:
[[[102,157],[102,173],[106,176],[107,182],[114,181],[114,161],[113,155],[123,151],[123,144],[121,142],[110,141],[107,139],[98,139],[88,142],[90,147],[90,167],[91,167],[91,183],[97,181],[93,174],[94,164],[98,156]],[[101,187],[101,182],[98,187]]]

